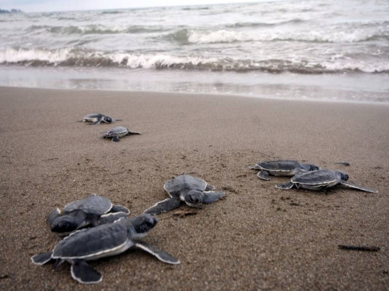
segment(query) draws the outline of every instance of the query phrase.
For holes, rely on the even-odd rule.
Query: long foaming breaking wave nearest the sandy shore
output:
[[[380,62],[346,62],[341,60],[322,63],[292,62],[268,59],[262,61],[231,58],[204,58],[199,56],[172,56],[167,54],[131,54],[124,52],[98,52],[79,49],[6,49],[0,51],[0,64],[31,66],[95,66],[148,69],[194,69],[211,71],[266,71],[272,73],[295,72],[301,74],[361,71],[389,73],[389,64]]]

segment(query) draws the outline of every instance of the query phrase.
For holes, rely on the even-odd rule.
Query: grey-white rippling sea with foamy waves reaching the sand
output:
[[[3,14],[0,31],[2,86],[389,102],[388,0]]]

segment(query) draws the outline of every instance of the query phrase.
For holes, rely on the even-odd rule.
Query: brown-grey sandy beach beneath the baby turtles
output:
[[[99,139],[113,126],[76,122],[96,112],[147,134]],[[0,134],[1,290],[388,290],[388,105],[1,87]],[[379,193],[282,191],[275,184],[287,178],[248,169],[286,158],[346,171]],[[180,265],[128,251],[91,262],[104,278],[87,286],[68,263],[31,263],[59,241],[52,209],[98,193],[139,215],[182,173],[226,198],[159,215],[144,240]]]

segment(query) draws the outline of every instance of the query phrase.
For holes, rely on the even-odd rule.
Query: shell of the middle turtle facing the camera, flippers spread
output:
[[[204,191],[206,187],[206,181],[191,175],[177,176],[176,178],[167,181],[165,185],[163,185],[163,188],[165,188],[167,193],[176,196],[178,196],[179,192],[183,189]]]

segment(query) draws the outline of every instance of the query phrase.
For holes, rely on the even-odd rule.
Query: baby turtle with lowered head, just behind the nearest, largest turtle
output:
[[[49,224],[54,232],[69,233],[85,226],[111,223],[129,213],[130,210],[124,206],[113,205],[103,196],[90,194],[66,205],[63,215],[58,208],[50,212]]]

